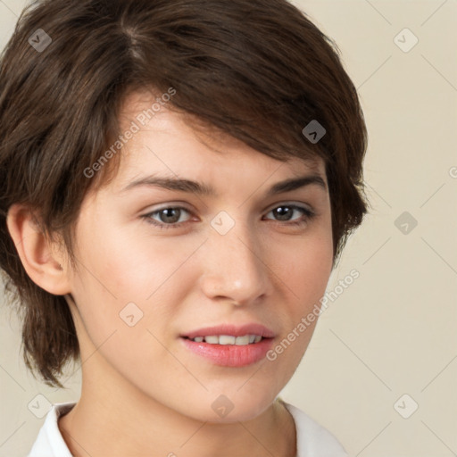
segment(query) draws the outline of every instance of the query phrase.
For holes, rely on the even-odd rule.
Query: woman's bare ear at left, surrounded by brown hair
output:
[[[41,231],[29,207],[13,204],[6,225],[29,278],[50,294],[69,294],[67,256],[60,244],[50,241]]]

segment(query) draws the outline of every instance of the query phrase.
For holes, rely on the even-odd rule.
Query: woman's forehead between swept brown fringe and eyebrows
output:
[[[123,179],[127,178],[126,173],[145,166],[149,169],[165,167],[171,173],[175,171],[173,167],[178,167],[176,172],[202,171],[210,170],[212,165],[215,169],[218,165],[219,169],[227,168],[228,160],[234,170],[237,166],[252,165],[252,170],[274,170],[281,166],[293,174],[314,171],[325,177],[325,163],[317,154],[290,155],[287,161],[278,161],[189,113],[179,112],[170,103],[161,104],[158,100],[160,94],[157,92],[134,92],[126,97],[120,110],[120,131],[126,132],[132,125],[136,126],[135,135],[122,149],[120,171]]]

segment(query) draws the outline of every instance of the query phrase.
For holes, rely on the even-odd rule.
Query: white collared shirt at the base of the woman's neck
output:
[[[343,446],[326,428],[321,427],[302,410],[289,403],[283,403],[295,420],[296,457],[347,457]],[[75,404],[53,405],[27,457],[73,457],[62,438],[57,420],[71,411]]]

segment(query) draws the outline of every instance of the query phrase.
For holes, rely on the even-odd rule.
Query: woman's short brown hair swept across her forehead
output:
[[[25,272],[8,209],[28,204],[71,255],[80,205],[120,154],[96,179],[84,170],[120,134],[133,91],[173,87],[170,106],[262,154],[322,158],[335,265],[367,212],[366,126],[338,54],[286,0],[38,0],[21,13],[0,70],[0,267],[23,316],[29,370],[62,387],[56,375],[79,358],[79,343],[64,297]],[[319,142],[303,134],[312,120],[326,129]]]

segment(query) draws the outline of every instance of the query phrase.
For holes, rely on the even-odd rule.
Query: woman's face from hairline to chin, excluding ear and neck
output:
[[[131,96],[125,129],[150,105]],[[300,323],[332,269],[324,164],[278,162],[165,108],[121,154],[76,227],[72,312],[81,353],[98,348],[83,378],[197,420],[253,419],[301,360],[316,321]],[[213,194],[160,187],[159,177]],[[270,192],[303,177],[314,178]]]

